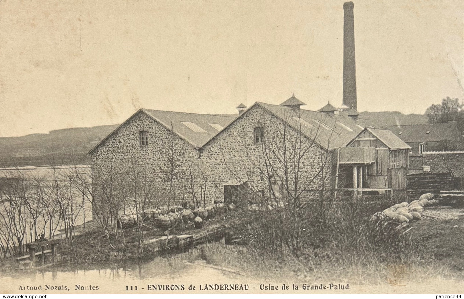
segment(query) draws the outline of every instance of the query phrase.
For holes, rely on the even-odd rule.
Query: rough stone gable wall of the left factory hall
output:
[[[140,131],[148,133],[147,146],[139,144]],[[150,189],[152,201],[190,201],[198,184],[196,155],[192,145],[140,111],[92,153],[92,184],[97,193],[101,184],[115,183],[112,190],[130,198],[129,186],[137,181],[138,189]]]

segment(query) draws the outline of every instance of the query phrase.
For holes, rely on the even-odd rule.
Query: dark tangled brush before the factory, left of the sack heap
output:
[[[415,245],[395,229],[396,224],[382,217],[371,219],[373,210],[390,204],[366,204],[351,196],[337,201],[320,198],[303,205],[237,210],[228,217],[235,234],[245,236],[241,238],[247,239],[251,250],[269,258],[333,260],[357,254],[380,260],[407,259]]]

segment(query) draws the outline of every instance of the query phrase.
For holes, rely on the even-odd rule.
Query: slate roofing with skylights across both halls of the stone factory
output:
[[[335,150],[347,145],[365,128],[373,130],[372,133],[378,134],[378,138],[382,142],[386,143],[387,146],[391,146],[391,148],[398,148],[405,144],[390,131],[374,129],[370,123],[363,119],[353,119],[352,117],[345,117],[342,115],[328,115],[319,111],[304,109],[296,110],[282,104],[273,105],[261,102],[254,103],[247,110],[250,110],[255,105],[259,105],[268,110],[276,117],[287,122],[296,130],[301,130],[304,135],[314,140],[327,150]],[[135,117],[138,113],[145,113],[149,117],[153,118],[154,121],[164,125],[168,128],[168,130],[174,131],[175,134],[192,144],[194,147],[201,148],[212,140],[213,137],[222,132],[228,125],[245,115],[246,111],[237,117],[236,115],[198,114],[140,109],[124,123],[119,125],[102,141],[100,141],[92,150],[89,151],[88,154],[92,154],[92,152],[99,147],[100,144],[104,143],[110,136],[116,133],[125,123]],[[406,147],[404,148],[409,148],[409,146],[406,144]]]

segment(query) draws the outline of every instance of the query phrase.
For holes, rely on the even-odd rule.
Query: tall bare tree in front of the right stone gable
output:
[[[332,129],[323,122],[324,115],[313,123],[302,119],[299,110],[289,110],[281,117],[276,122],[266,112],[255,116],[263,134],[261,129],[255,130],[254,145],[243,141],[240,158],[244,162],[239,171],[224,158],[232,176],[248,181],[254,201],[250,203],[258,206],[241,210],[231,221],[241,227],[242,234],[253,236],[252,244],[258,249],[299,256],[322,242],[315,232],[326,225],[334,201],[327,192],[333,175],[329,167],[332,153],[327,148],[332,135],[338,133],[335,122]],[[261,196],[255,196],[259,191]]]

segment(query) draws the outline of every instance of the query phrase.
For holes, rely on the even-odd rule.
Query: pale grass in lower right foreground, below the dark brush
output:
[[[263,254],[247,247],[218,243],[205,244],[172,259],[203,259],[260,278],[263,282],[320,284],[336,280],[361,286],[405,286],[411,282],[428,284],[436,280],[463,280],[464,217],[456,220],[424,218],[412,222],[411,227],[405,237],[418,246],[398,260],[382,260],[368,250],[346,254],[330,249],[324,258],[319,259],[272,259],[269,253],[263,258]]]

